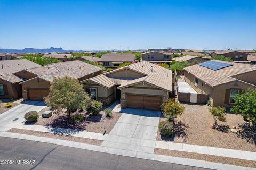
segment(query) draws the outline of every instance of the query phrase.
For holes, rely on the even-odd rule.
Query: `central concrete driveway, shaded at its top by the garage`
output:
[[[161,112],[121,109],[121,117],[102,146],[154,153]]]

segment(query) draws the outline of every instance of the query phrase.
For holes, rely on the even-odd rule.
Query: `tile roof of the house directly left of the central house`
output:
[[[73,79],[79,79],[100,70],[102,69],[97,66],[87,64],[79,60],[53,63],[41,67],[36,67],[34,69],[27,69],[27,71],[38,75],[35,78],[41,78],[50,82],[54,78],[61,78],[65,76],[71,77]]]

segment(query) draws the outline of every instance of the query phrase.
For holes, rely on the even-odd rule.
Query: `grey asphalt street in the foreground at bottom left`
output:
[[[0,137],[0,169],[205,169]],[[2,165],[4,164],[4,165]]]

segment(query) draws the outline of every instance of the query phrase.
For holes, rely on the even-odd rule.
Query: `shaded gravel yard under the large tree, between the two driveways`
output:
[[[49,110],[49,108],[45,108],[44,111]],[[61,114],[52,114],[49,118],[42,118],[41,111],[39,113],[38,121],[35,123],[36,125],[44,125],[44,126],[51,126],[57,128],[69,128],[69,129],[79,129],[83,131],[95,132],[95,133],[104,133],[106,130],[106,134],[108,134],[111,129],[116,124],[118,118],[121,116],[121,113],[112,112],[112,116],[110,118],[105,116],[104,112],[100,112],[97,116],[88,116],[84,112],[78,114],[84,114],[85,118],[84,121],[81,123],[72,124],[68,121],[68,116],[66,113]],[[72,115],[74,115],[73,113]]]

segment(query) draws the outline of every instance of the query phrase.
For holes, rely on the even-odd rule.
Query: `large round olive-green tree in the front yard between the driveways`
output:
[[[45,98],[46,104],[52,109],[58,112],[67,109],[69,118],[77,109],[86,109],[90,100],[84,91],[83,84],[70,77],[54,78],[50,93]]]

